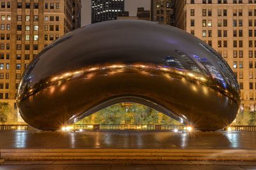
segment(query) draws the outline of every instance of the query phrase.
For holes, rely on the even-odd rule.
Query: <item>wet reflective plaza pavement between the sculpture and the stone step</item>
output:
[[[256,149],[256,132],[0,131],[1,149]]]

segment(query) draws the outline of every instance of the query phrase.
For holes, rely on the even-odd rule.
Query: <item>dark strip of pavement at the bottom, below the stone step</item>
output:
[[[256,162],[214,162],[214,161],[141,161],[141,160],[56,160],[56,161],[12,161],[0,164],[0,170],[168,170],[168,169],[211,169],[211,170],[243,170],[256,169]]]

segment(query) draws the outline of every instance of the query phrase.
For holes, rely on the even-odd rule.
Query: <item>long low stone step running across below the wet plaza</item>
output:
[[[252,160],[256,150],[4,149],[5,160]]]

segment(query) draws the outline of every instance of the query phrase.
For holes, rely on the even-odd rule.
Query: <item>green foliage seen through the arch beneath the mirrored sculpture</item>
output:
[[[180,124],[176,120],[142,104],[114,104],[83,118],[77,124]]]

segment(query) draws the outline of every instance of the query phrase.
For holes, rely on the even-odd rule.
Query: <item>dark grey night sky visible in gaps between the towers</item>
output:
[[[91,0],[82,1],[82,26],[91,23]],[[129,11],[130,16],[136,16],[137,8],[144,7],[145,10],[150,10],[150,0],[125,0],[125,11]]]

